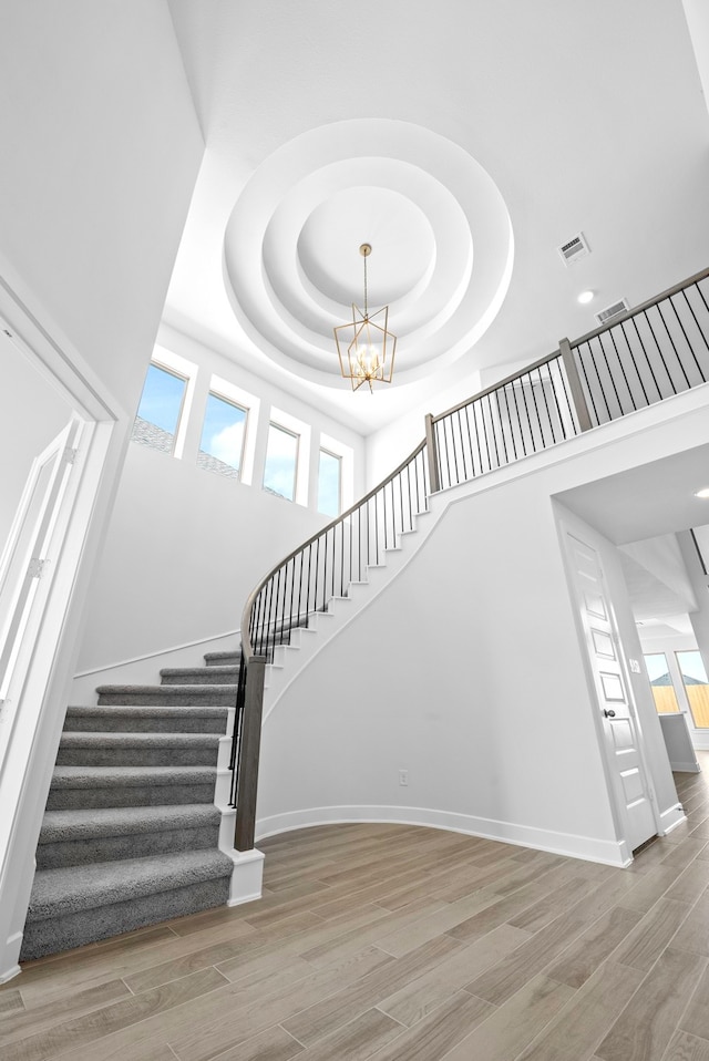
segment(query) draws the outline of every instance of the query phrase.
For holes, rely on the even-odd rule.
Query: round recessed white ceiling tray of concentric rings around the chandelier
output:
[[[497,187],[430,130],[382,119],[304,133],[239,195],[224,239],[227,293],[257,346],[290,372],[341,385],[332,328],[389,305],[397,380],[465,353],[500,309],[513,237]]]

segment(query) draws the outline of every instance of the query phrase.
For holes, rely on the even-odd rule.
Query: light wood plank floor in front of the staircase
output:
[[[28,962],[0,1058],[709,1061],[702,759],[628,871],[409,826],[265,841],[258,903]]]

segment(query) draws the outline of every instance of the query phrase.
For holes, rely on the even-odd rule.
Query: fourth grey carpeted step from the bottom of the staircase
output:
[[[216,766],[216,733],[62,733],[58,766]]]

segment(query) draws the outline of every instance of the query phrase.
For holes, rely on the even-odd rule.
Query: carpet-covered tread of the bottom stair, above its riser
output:
[[[61,917],[187,887],[203,880],[227,877],[232,869],[232,859],[216,849],[44,869],[34,875],[28,920]]]

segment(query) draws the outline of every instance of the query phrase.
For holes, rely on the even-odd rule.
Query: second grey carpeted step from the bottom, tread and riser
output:
[[[215,848],[219,821],[217,807],[207,803],[47,811],[37,868]]]

